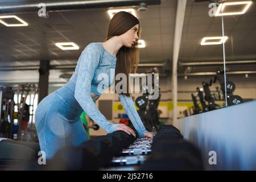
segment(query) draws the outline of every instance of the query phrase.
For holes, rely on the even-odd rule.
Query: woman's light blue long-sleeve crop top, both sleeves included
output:
[[[108,133],[113,133],[118,124],[110,123],[104,117],[94,104],[91,93],[101,96],[102,92],[113,83],[114,74],[110,73],[114,73],[116,61],[117,57],[106,51],[101,42],[90,43],[82,51],[75,72],[65,85],[73,91],[73,97],[82,107],[82,110]],[[104,84],[99,85],[102,84],[102,74],[108,75],[109,79],[105,79]],[[130,121],[137,130],[138,137],[142,138],[143,133],[147,130],[135,109],[133,99],[122,94],[119,94],[119,98]]]

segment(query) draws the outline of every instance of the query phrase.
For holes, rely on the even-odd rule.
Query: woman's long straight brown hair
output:
[[[119,36],[125,34],[128,30],[134,27],[136,24],[139,24],[139,20],[132,14],[127,13],[126,11],[119,11],[117,14],[113,16],[110,20],[107,40],[112,38],[113,36]],[[141,28],[139,26],[138,37],[140,37]],[[115,76],[118,73],[124,73],[127,78],[127,90],[125,94],[126,96],[130,96],[129,94],[129,73],[136,73],[138,64],[139,64],[139,48],[138,41],[131,47],[122,46],[117,53],[117,63],[115,66]],[[119,81],[115,80],[115,85],[117,85]],[[116,91],[115,91],[116,92]]]

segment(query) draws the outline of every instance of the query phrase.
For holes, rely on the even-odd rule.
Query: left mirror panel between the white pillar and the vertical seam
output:
[[[224,102],[220,84],[211,81],[224,69],[221,25],[209,1],[187,1],[178,62],[178,118],[217,109]]]

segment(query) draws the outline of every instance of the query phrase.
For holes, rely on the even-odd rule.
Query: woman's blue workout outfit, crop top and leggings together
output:
[[[110,123],[101,114],[91,93],[101,96],[113,83],[114,74],[110,72],[115,71],[116,61],[117,57],[106,51],[101,42],[88,44],[82,51],[75,72],[67,84],[39,103],[35,113],[35,125],[40,148],[46,152],[47,159],[52,158],[64,146],[78,146],[88,140],[80,120],[83,110],[106,132],[115,131],[119,124]],[[101,73],[109,77],[103,85],[102,79],[98,79]],[[135,109],[133,99],[122,94],[119,94],[119,98],[137,130],[138,137],[142,138],[147,130]]]

